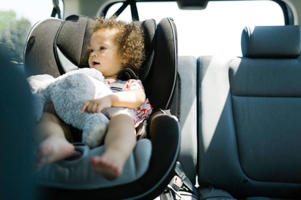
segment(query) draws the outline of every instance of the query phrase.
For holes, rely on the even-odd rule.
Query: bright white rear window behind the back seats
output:
[[[173,17],[178,33],[178,55],[242,56],[241,32],[245,26],[284,25],[282,8],[271,0],[209,1],[204,10],[181,10],[177,2],[137,2],[140,21],[153,18],[158,23]],[[122,3],[113,4],[111,16]],[[131,21],[128,6],[119,16]]]

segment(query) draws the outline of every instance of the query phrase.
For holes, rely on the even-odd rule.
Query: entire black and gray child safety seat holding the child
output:
[[[71,15],[64,21],[49,18],[34,25],[24,50],[26,75],[57,77],[88,67],[86,49],[91,23],[88,17]],[[90,157],[101,154],[103,146],[90,150],[75,144],[81,157],[53,163],[38,174],[37,198],[151,199],[172,178],[180,143],[178,120],[168,111],[176,84],[176,27],[171,18],[162,19],[158,25],[155,20],[134,23],[141,25],[146,35],[148,59],[139,78],[154,108],[144,123],[150,140],[137,142],[123,175],[115,181],[104,180],[89,165]]]

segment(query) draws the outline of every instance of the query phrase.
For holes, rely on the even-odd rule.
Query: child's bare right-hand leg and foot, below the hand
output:
[[[102,156],[94,156],[91,160],[95,172],[103,174],[110,180],[118,178],[135,144],[133,118],[126,114],[111,118],[104,141],[105,152]]]

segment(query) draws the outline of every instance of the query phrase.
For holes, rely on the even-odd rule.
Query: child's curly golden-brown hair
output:
[[[130,68],[138,72],[145,61],[145,36],[140,26],[133,22],[127,23],[116,20],[113,15],[110,18],[94,17],[90,32],[93,34],[103,29],[116,29],[114,41],[119,47],[119,57],[127,59],[124,68]]]

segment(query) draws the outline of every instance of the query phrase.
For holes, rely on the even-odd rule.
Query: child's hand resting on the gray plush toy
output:
[[[111,108],[112,99],[110,96],[91,100],[82,106],[81,113],[87,111],[87,113],[100,113],[105,108]]]

